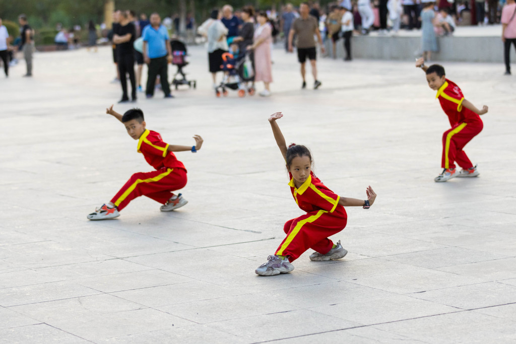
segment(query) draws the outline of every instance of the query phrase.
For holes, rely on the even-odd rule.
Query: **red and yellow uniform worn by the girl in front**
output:
[[[299,188],[296,188],[292,174],[288,175],[294,200],[307,212],[297,219],[288,220],[283,227],[287,237],[276,254],[289,256],[288,261],[292,263],[309,248],[321,254],[328,253],[333,247],[328,237],[342,231],[348,217],[344,207],[338,205],[340,196],[322,184],[312,172]]]

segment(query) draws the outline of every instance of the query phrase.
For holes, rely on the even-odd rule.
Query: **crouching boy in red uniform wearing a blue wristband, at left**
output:
[[[105,220],[119,217],[119,211],[141,195],[162,203],[161,211],[172,211],[188,203],[181,193],[178,195],[172,193],[186,185],[185,166],[172,152],[195,153],[201,149],[202,138],[199,135],[193,136],[196,141],[195,146],[170,145],[163,142],[158,133],[145,128],[146,123],[140,109],[127,110],[122,116],[114,111],[111,105],[106,109],[106,113],[122,122],[127,129],[127,134],[138,140],[138,153],[142,153],[145,160],[156,171],[133,174],[115,197],[109,203],[96,208],[95,212],[88,215],[88,219]]]

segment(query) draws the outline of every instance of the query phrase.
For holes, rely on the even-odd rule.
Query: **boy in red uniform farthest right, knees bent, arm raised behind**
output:
[[[484,105],[479,110],[464,99],[460,88],[446,79],[442,65],[432,64],[427,67],[423,58],[420,58],[416,61],[416,67],[420,67],[426,73],[428,86],[437,91],[436,98],[439,99],[451,124],[451,129],[443,134],[443,172],[434,178],[434,181],[446,182],[454,177],[476,177],[480,173],[462,149],[482,131],[483,123],[478,115],[487,113],[488,107]],[[456,171],[455,162],[462,167],[460,172]]]

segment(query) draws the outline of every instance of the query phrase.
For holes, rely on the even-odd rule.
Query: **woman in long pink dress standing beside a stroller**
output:
[[[272,43],[272,28],[267,19],[267,13],[259,12],[256,20],[258,26],[254,29],[254,43],[249,48],[254,50],[254,81],[263,81],[265,89],[261,96],[269,96],[269,84],[272,83],[272,60],[270,46]]]

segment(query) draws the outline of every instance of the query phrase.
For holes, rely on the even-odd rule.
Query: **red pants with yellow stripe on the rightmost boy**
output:
[[[467,142],[470,142],[478,133],[482,131],[481,121],[474,123],[460,123],[455,128],[446,130],[443,134],[443,169],[454,169],[455,161],[463,169],[473,167],[470,159],[462,150]]]

